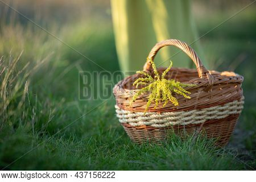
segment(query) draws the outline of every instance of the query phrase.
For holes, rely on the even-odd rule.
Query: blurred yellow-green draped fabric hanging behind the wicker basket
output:
[[[179,39],[190,44],[197,39],[189,0],[112,0],[111,4],[122,71],[141,70],[150,49],[161,40]],[[207,66],[199,42],[191,47]],[[174,47],[163,48],[156,56],[156,65],[167,66],[172,57],[174,67],[192,67],[188,56],[177,52]]]

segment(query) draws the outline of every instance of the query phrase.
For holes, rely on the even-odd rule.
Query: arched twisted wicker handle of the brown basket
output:
[[[212,88],[212,85],[214,83],[213,76],[210,75],[208,69],[206,69],[201,62],[200,58],[196,55],[196,52],[188,46],[188,44],[181,42],[180,40],[176,39],[168,39],[163,40],[162,42],[159,42],[155,44],[155,46],[151,49],[150,53],[148,54],[147,61],[144,64],[143,71],[149,72],[151,67],[150,60],[154,61],[156,53],[159,51],[160,48],[164,46],[176,46],[180,48],[183,52],[187,53],[187,55],[193,60],[193,62],[196,65],[197,73],[200,78],[207,77],[208,78],[208,85],[205,88],[206,91],[209,91],[210,88]]]

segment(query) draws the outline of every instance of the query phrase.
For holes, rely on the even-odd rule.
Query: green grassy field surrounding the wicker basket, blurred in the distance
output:
[[[119,70],[109,3],[33,2],[10,5],[106,70]],[[193,11],[203,35],[247,2],[225,9],[196,3]],[[175,135],[161,146],[131,143],[115,117],[113,96],[79,100],[79,72],[101,69],[1,2],[0,10],[0,168],[256,168],[254,5],[200,40],[209,69],[231,70],[245,77],[245,108],[225,148],[214,147],[213,141],[203,137],[181,141]]]

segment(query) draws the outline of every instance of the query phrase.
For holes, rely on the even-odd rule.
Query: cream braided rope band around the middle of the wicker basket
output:
[[[240,101],[229,102],[225,105],[218,105],[204,109],[195,109],[179,112],[131,112],[120,109],[115,105],[117,117],[121,123],[129,123],[132,126],[167,127],[174,125],[189,125],[203,123],[209,119],[222,119],[230,114],[240,114],[243,109],[244,98]]]

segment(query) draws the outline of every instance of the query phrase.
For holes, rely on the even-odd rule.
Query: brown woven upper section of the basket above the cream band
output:
[[[172,70],[179,71],[177,73],[180,73],[180,78],[182,78],[184,74],[195,74],[192,76],[193,78],[192,80],[189,80],[189,82],[196,84],[196,86],[188,86],[187,88],[185,88],[186,90],[191,92],[191,94],[189,95],[191,96],[191,99],[188,100],[183,96],[175,94],[174,97],[176,97],[179,101],[179,106],[174,106],[171,103],[167,103],[165,107],[162,107],[162,104],[160,104],[159,107],[153,109],[152,107],[154,107],[154,102],[152,102],[148,111],[162,113],[168,111],[200,109],[204,107],[212,107],[220,104],[226,104],[234,100],[240,100],[242,97],[241,84],[243,82],[243,77],[234,72],[210,71],[213,78],[213,85],[212,89],[206,91],[205,88],[209,83],[208,78],[199,78],[198,76],[196,76],[196,69],[173,68]],[[150,93],[143,93],[141,96],[139,96],[137,101],[133,102],[133,104],[130,105],[131,99],[133,98],[134,94],[138,92],[139,89],[125,88],[127,84],[131,85],[133,81],[140,76],[141,75],[138,74],[131,75],[119,81],[114,86],[113,94],[115,96],[116,103],[122,109],[136,112],[144,111],[147,98]]]

